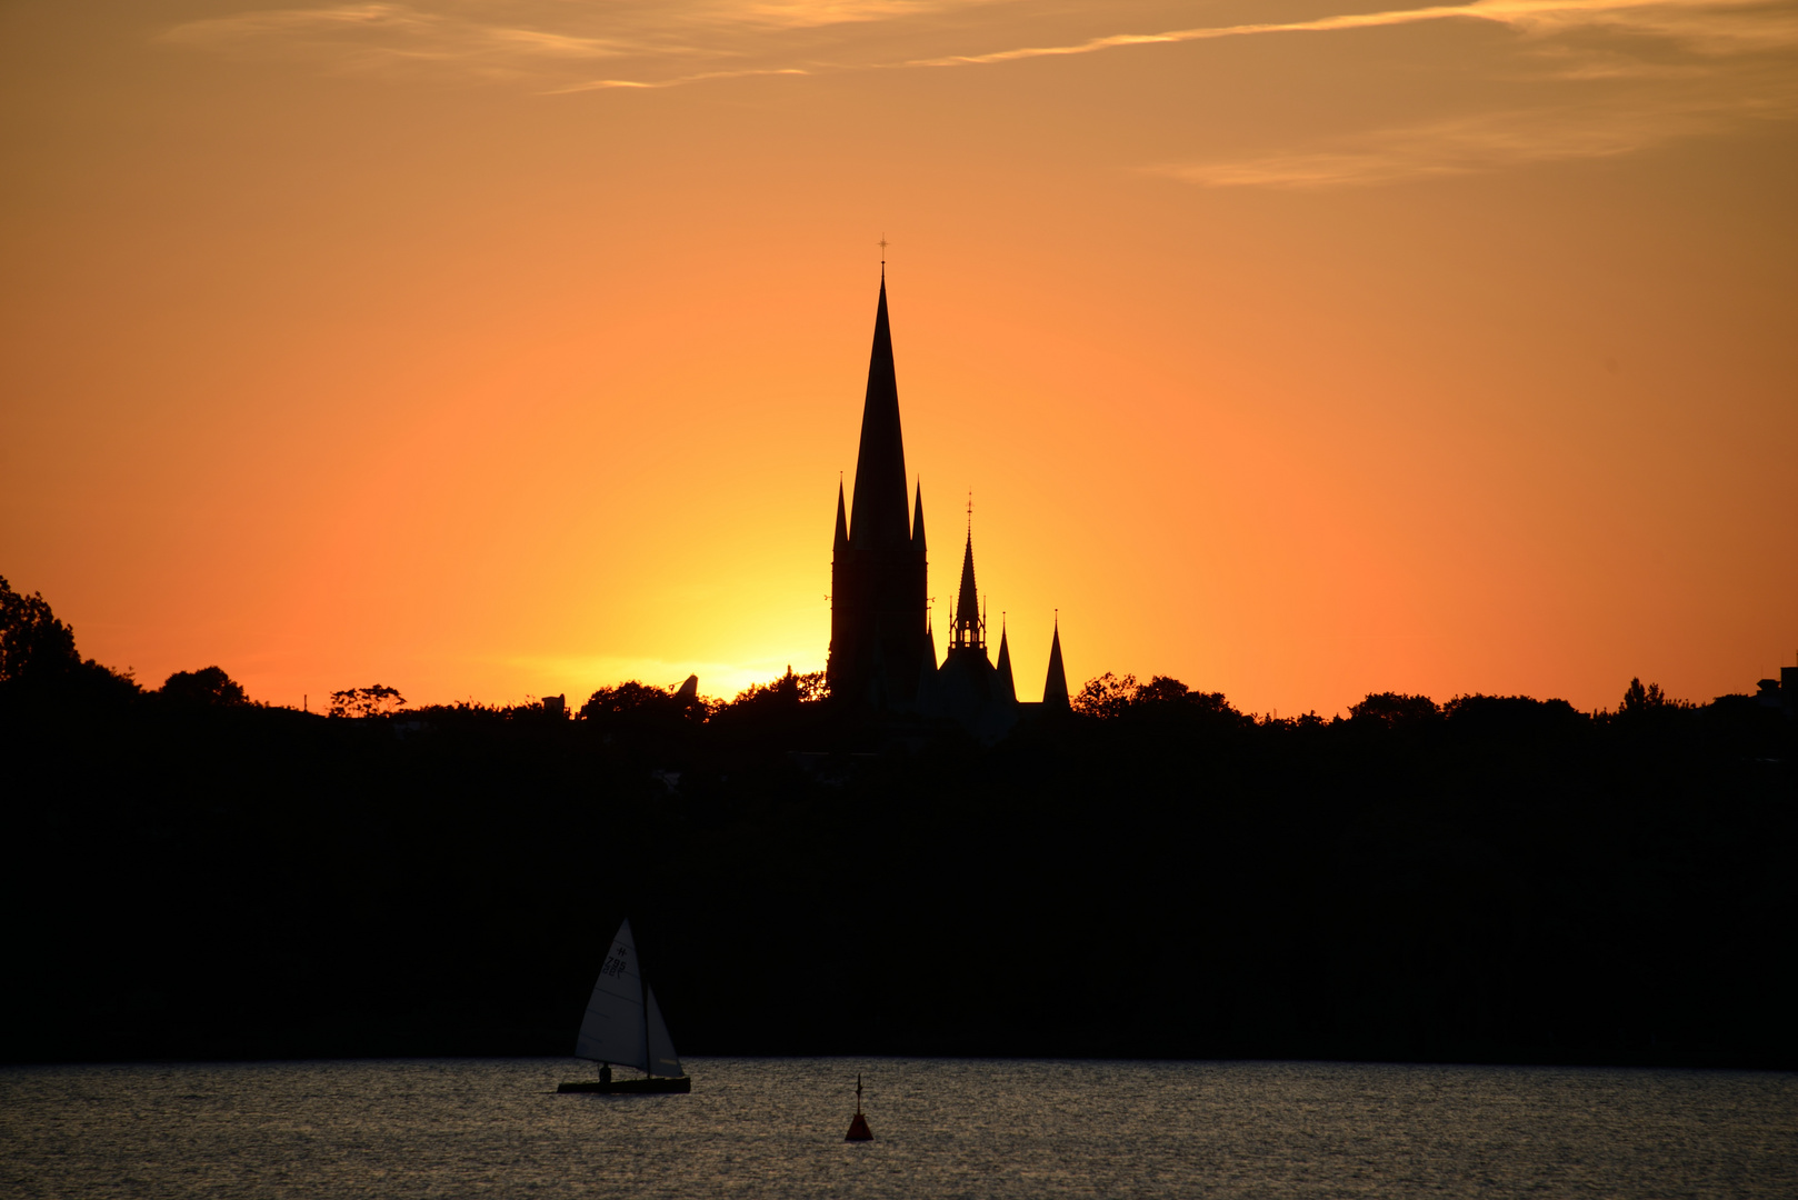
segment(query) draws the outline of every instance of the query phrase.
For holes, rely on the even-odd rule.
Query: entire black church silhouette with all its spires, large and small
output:
[[[928,601],[924,486],[906,497],[899,381],[886,317],[886,270],[874,311],[868,392],[861,407],[856,488],[845,506],[836,488],[831,554],[831,696],[870,714],[953,720],[980,738],[1000,738],[1032,711],[1068,709],[1061,621],[1048,649],[1041,703],[1018,700],[1010,644],[1000,628],[998,664],[987,657],[987,619],[975,585],[975,529],[967,524],[949,648],[937,662]],[[908,513],[910,507],[910,513]]]

